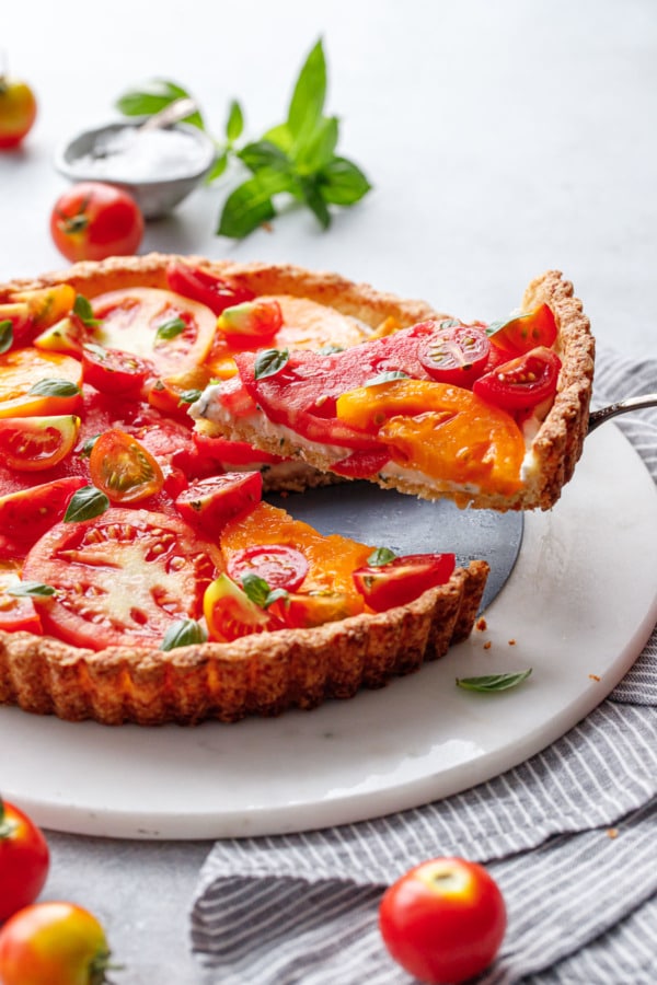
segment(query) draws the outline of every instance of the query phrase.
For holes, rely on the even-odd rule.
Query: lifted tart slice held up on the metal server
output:
[[[593,339],[557,271],[492,325],[423,316],[338,352],[237,354],[191,413],[204,434],[459,506],[549,509],[586,436]]]

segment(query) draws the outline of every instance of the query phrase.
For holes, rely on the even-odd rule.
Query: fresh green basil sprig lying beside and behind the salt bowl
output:
[[[207,181],[224,174],[229,164],[242,172],[221,210],[217,235],[242,240],[279,213],[277,196],[284,195],[310,209],[322,229],[332,222],[332,207],[353,206],[371,185],[354,161],[337,153],[339,118],[324,113],[327,90],[326,60],[318,40],[299,72],[286,119],[267,129],[258,140],[240,142],[244,113],[233,100],[223,139],[216,141],[219,153]],[[157,80],[146,89],[120,96],[116,107],[127,116],[149,116],[189,93],[168,80]],[[200,113],[187,117],[200,129]]]

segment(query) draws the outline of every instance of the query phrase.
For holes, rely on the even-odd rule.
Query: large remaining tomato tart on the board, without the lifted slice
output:
[[[349,351],[433,316],[335,275],[198,257],[0,286],[0,702],[234,721],[351,697],[464,639],[486,563],[323,536],[262,493],[327,474],[188,415],[258,349]]]

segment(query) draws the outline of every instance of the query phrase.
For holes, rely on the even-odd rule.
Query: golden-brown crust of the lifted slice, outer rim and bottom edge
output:
[[[588,427],[589,402],[593,380],[595,340],[589,320],[581,302],[574,296],[573,285],[563,279],[558,270],[548,270],[527,288],[521,310],[530,310],[541,303],[550,305],[557,327],[557,351],[562,360],[558,392],[554,404],[535,434],[530,452],[530,466],[522,488],[515,494],[497,495],[452,490],[440,485],[429,485],[422,478],[372,477],[383,488],[424,499],[453,499],[461,507],[507,510],[550,509],[561,496],[563,486],[572,478],[581,455]],[[425,315],[426,317],[426,315]],[[199,420],[197,427],[204,433],[222,433],[239,438],[277,454],[301,456],[312,467],[326,471],[332,460],[320,445],[297,445],[289,434],[262,434],[257,421],[247,418],[220,425]],[[348,451],[345,450],[345,454]]]

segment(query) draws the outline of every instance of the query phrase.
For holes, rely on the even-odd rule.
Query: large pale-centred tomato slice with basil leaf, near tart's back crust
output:
[[[101,320],[97,343],[152,363],[169,376],[199,366],[212,344],[217,318],[209,308],[158,288],[126,288],[92,301]]]

